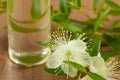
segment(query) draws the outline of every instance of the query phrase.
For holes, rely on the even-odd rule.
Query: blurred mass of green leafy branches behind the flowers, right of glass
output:
[[[63,27],[75,33],[86,33],[88,38],[93,38],[92,44],[90,45],[92,46],[90,48],[93,49],[93,51],[90,51],[92,56],[97,55],[101,43],[102,45],[110,47],[110,52],[101,52],[109,53],[110,56],[108,55],[106,57],[107,59],[108,57],[112,57],[111,55],[113,53],[111,52],[120,54],[120,20],[114,22],[110,21],[108,18],[109,16],[120,16],[120,4],[117,4],[112,0],[94,0],[92,9],[88,6],[86,7],[94,12],[97,17],[91,18],[84,14],[88,17],[88,20],[86,21],[76,21],[71,19],[70,14],[73,9],[82,13],[82,8],[84,6],[81,3],[82,0],[59,0],[59,10],[55,10],[54,7],[52,7],[52,21],[56,22],[59,27]],[[102,24],[104,21],[108,21],[112,25],[105,26]],[[104,54],[102,54],[102,56],[104,56]]]

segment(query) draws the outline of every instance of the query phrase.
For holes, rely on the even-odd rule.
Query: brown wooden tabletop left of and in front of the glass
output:
[[[26,68],[14,64],[9,60],[7,46],[7,31],[3,30],[0,32],[0,80],[66,80],[45,72],[44,65]]]

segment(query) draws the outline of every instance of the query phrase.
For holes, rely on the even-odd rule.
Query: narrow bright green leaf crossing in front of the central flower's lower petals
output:
[[[76,68],[77,70],[79,70],[80,72],[83,73],[87,73],[86,68],[84,68],[82,65],[75,63],[75,62],[71,62],[71,61],[64,61],[66,64],[73,66],[74,68]]]

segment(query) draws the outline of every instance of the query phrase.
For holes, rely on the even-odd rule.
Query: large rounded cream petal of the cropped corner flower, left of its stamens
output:
[[[92,58],[89,69],[91,72],[97,73],[103,77],[106,75],[105,61],[100,56],[95,56]]]

